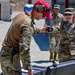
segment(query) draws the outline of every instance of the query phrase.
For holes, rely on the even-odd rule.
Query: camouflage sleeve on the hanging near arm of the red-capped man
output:
[[[30,58],[30,43],[31,43],[31,31],[27,25],[21,26],[21,39],[20,39],[20,59],[23,64],[23,68],[28,70],[31,69],[31,58]]]

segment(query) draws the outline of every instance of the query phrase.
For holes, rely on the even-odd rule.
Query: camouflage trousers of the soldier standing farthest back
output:
[[[59,43],[56,45],[55,37],[50,39],[50,60],[57,60],[58,61],[58,50],[59,50]]]

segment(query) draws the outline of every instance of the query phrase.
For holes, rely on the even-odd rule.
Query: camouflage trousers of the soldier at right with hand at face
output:
[[[60,45],[59,48],[59,63],[69,61],[71,57],[70,50],[68,46]]]

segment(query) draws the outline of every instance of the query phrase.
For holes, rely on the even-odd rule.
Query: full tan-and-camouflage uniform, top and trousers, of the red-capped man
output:
[[[31,36],[39,31],[28,13],[20,13],[13,19],[0,52],[3,75],[21,75],[20,59],[24,69],[31,69]]]

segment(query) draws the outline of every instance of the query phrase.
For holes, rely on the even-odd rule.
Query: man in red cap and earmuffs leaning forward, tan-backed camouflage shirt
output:
[[[30,58],[30,42],[32,34],[43,32],[48,26],[36,28],[34,19],[44,16],[51,19],[50,5],[45,0],[38,0],[30,13],[18,14],[4,38],[1,49],[1,68],[3,75],[22,75],[20,59],[23,68],[28,70],[28,75],[33,75]]]

